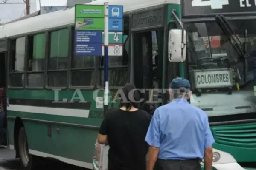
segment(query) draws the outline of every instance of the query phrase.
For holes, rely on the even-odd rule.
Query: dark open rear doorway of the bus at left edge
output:
[[[6,59],[7,40],[0,40],[0,101],[5,102],[3,109],[6,112]],[[3,93],[2,93],[3,91]],[[0,146],[7,146],[7,116],[0,112]]]

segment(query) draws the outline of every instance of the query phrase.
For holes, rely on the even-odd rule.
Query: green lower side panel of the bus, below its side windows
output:
[[[97,133],[104,117],[103,109],[99,103],[96,107],[93,91],[59,91],[59,101],[67,99],[67,102],[52,104],[54,93],[52,90],[9,90],[8,116],[21,118],[30,154],[91,169]],[[73,96],[76,98],[73,101],[83,98],[87,103],[70,102]],[[97,96],[103,96],[103,93]],[[14,120],[9,119],[12,145],[14,127]]]

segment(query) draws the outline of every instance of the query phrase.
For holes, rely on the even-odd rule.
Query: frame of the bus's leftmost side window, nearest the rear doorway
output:
[[[24,69],[23,71],[20,71],[20,72],[11,72],[10,71],[10,65],[11,65],[11,46],[12,46],[12,41],[13,40],[17,40],[18,38],[22,38],[24,37],[25,38],[25,58],[24,58],[24,68],[26,68],[26,55],[27,55],[27,50],[26,50],[26,45],[27,45],[27,34],[21,34],[21,35],[18,35],[18,36],[13,36],[13,37],[9,37],[8,38],[8,50],[7,50],[7,88],[8,89],[24,89],[25,88],[25,84],[26,84],[26,77],[25,77],[25,72],[26,70]],[[15,50],[16,50],[16,46],[15,46]],[[22,86],[20,87],[15,87],[15,86],[12,86],[10,85],[10,75],[11,74],[21,74],[23,75],[23,83],[22,83]]]

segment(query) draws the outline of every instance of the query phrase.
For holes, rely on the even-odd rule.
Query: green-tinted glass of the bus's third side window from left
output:
[[[48,59],[48,86],[67,86],[67,58],[69,49],[69,29],[50,33],[50,55]]]

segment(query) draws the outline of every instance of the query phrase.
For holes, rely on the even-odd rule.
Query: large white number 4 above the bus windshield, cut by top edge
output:
[[[222,9],[224,5],[228,5],[229,0],[192,0],[192,6],[211,6],[212,9]]]

